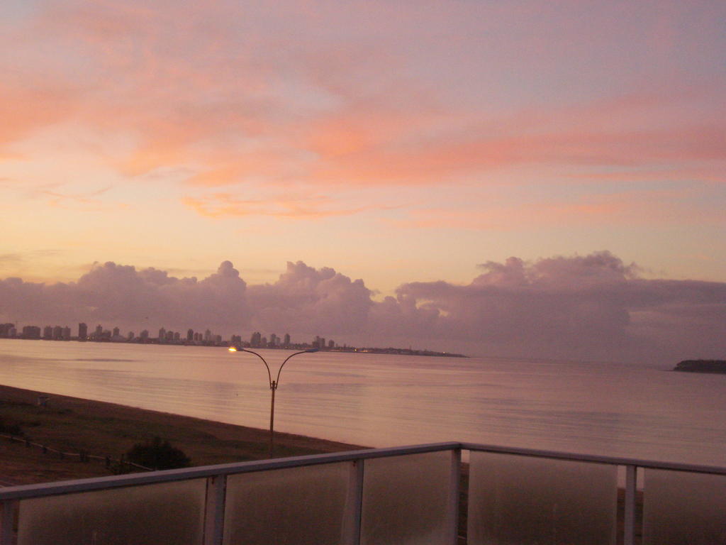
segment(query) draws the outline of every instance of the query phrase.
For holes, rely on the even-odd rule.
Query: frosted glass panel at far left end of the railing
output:
[[[206,480],[20,502],[18,545],[202,543]]]

